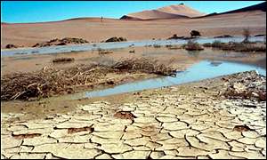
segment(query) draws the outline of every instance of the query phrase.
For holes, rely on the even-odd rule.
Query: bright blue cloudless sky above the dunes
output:
[[[264,1],[1,1],[1,21],[26,23],[101,16],[119,19],[130,12],[181,3],[199,12],[227,12],[262,2]]]

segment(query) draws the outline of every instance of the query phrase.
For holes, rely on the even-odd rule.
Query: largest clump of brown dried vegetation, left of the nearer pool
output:
[[[74,92],[76,88],[93,86],[105,80],[108,73],[142,72],[174,75],[175,70],[157,60],[118,60],[112,65],[91,64],[71,68],[47,68],[30,73],[1,77],[1,100],[31,100]]]

